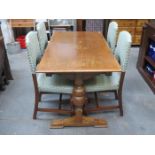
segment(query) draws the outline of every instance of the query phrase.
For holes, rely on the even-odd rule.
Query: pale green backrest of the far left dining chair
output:
[[[39,39],[41,53],[43,55],[44,50],[48,44],[45,23],[44,22],[38,23],[36,28],[37,28],[37,32],[38,32],[38,39]]]

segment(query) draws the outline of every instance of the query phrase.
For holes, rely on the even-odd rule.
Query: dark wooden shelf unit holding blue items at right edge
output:
[[[143,27],[142,40],[137,61],[137,68],[146,83],[155,93],[155,59],[150,50],[155,50],[155,24],[146,24]],[[151,49],[152,46],[152,49]],[[154,51],[152,51],[154,53]]]

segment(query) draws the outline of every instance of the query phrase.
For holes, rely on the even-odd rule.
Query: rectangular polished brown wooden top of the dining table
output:
[[[104,37],[98,32],[54,32],[37,66],[44,73],[121,71]]]

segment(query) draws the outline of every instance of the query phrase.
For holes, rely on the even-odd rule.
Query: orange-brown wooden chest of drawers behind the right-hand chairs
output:
[[[148,19],[117,19],[118,32],[126,30],[132,35],[132,45],[140,45],[142,27]]]

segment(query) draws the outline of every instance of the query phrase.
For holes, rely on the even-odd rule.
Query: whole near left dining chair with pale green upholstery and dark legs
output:
[[[41,96],[43,94],[71,94],[73,83],[59,75],[53,74],[52,76],[47,76],[45,73],[36,73],[36,66],[41,53],[37,32],[31,31],[26,35],[26,45],[35,90],[33,119],[36,119],[38,111],[70,114],[71,110],[61,109],[60,105],[58,109],[39,107],[39,104],[42,102]]]

